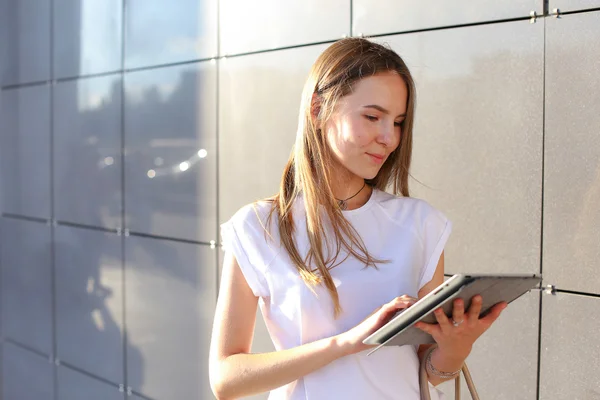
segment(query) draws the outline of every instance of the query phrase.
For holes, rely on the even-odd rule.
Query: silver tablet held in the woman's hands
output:
[[[483,298],[480,317],[485,316],[495,304],[511,303],[542,281],[540,275],[475,275],[458,274],[446,280],[415,304],[399,311],[388,323],[363,340],[365,344],[378,345],[369,354],[382,346],[402,346],[435,343],[431,335],[413,325],[418,321],[437,323],[433,311],[441,307],[452,318],[453,300],[462,298],[465,311],[471,298],[480,294]]]

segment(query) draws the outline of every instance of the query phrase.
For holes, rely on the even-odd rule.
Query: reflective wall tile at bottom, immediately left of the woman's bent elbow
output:
[[[217,250],[130,236],[125,252],[128,385],[156,399],[209,398]]]

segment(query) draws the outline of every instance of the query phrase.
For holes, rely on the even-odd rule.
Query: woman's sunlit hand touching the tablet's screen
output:
[[[396,297],[389,303],[378,307],[354,328],[337,335],[337,341],[344,349],[344,354],[355,354],[374,347],[374,345],[364,344],[363,340],[388,323],[399,310],[406,309],[416,302],[416,298],[407,295]]]

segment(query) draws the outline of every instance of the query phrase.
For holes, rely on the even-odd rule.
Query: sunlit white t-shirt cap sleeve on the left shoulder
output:
[[[247,221],[239,218],[238,213],[221,224],[221,238],[223,249],[233,253],[254,295],[268,297],[269,286],[265,279],[265,267],[257,249],[261,239],[257,237],[257,231],[249,226]]]

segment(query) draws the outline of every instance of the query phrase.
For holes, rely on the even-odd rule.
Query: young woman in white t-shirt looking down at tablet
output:
[[[409,197],[415,86],[387,47],[349,38],[313,65],[279,193],[221,226],[226,249],[210,351],[218,399],[271,391],[271,400],[432,397],[459,371],[506,303],[419,323],[437,343],[384,347],[363,339],[444,280],[451,222]],[[386,192],[390,190],[391,193]],[[276,351],[250,354],[260,305]],[[375,311],[373,311],[375,310]]]

